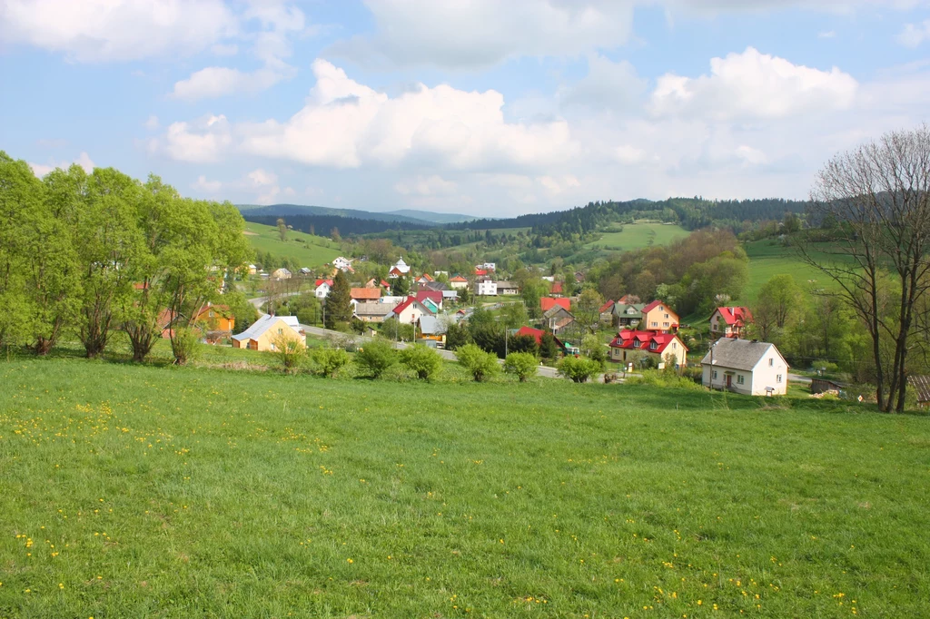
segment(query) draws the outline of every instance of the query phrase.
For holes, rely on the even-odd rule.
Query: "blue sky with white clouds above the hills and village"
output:
[[[0,149],[235,203],[804,198],[930,110],[918,0],[0,0]]]

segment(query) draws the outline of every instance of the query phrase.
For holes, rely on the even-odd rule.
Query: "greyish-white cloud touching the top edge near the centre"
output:
[[[332,47],[336,54],[396,64],[480,67],[519,56],[565,56],[612,48],[631,35],[632,0],[367,0],[371,38]]]

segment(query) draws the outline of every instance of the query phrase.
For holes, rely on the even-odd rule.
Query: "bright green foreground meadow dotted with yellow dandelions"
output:
[[[907,617],[930,598],[925,417],[68,359],[0,362],[0,385],[0,615]]]

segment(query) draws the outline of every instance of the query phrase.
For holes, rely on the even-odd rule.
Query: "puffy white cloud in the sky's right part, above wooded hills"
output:
[[[652,93],[651,111],[717,120],[784,118],[848,109],[857,87],[851,75],[836,67],[819,71],[748,47],[742,54],[711,59],[710,75],[662,75]]]

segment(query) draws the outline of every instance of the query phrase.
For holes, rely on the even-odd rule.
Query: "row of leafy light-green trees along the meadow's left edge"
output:
[[[122,331],[142,361],[167,329],[183,363],[195,310],[252,257],[244,229],[233,204],[155,176],[72,165],[40,179],[0,151],[0,346],[45,355],[68,334],[97,357]]]

